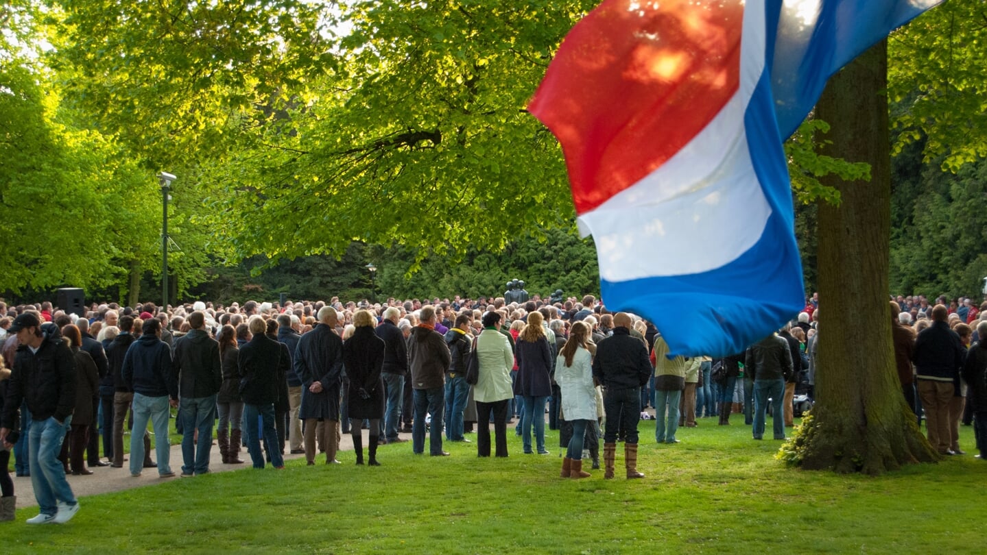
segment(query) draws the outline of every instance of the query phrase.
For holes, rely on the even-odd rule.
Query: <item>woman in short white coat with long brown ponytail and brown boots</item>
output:
[[[572,423],[569,451],[562,459],[563,478],[588,478],[582,471],[582,440],[586,427],[596,420],[596,387],[587,350],[589,326],[581,321],[572,324],[569,340],[556,359],[556,382],[562,390],[562,411]]]

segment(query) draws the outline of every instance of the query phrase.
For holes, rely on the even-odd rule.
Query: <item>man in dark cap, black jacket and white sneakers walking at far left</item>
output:
[[[34,419],[28,438],[31,457],[31,483],[40,513],[29,524],[63,523],[79,512],[65,471],[58,460],[65,433],[72,424],[75,408],[75,360],[53,324],[41,329],[41,321],[25,312],[11,324],[21,346],[17,349],[13,373],[7,385],[0,440],[10,449],[10,433],[21,401],[26,400]]]

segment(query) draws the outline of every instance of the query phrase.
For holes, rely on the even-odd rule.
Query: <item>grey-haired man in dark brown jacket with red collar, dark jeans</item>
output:
[[[408,338],[408,361],[415,389],[415,423],[412,449],[416,454],[425,448],[425,414],[431,415],[428,452],[432,456],[448,456],[442,451],[443,382],[446,369],[452,363],[449,348],[442,335],[435,331],[435,310],[425,307],[420,312],[421,323]]]

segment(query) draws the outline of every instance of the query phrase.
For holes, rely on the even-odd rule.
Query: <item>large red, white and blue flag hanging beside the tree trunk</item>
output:
[[[804,306],[782,142],[828,77],[934,0],[606,0],[529,104],[559,139],[611,311],[728,355]]]

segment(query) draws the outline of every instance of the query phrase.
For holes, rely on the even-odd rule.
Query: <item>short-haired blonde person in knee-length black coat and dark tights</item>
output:
[[[349,433],[353,438],[353,451],[356,451],[356,463],[363,464],[360,428],[363,419],[368,419],[370,459],[367,464],[370,466],[380,466],[377,462],[377,441],[380,419],[384,416],[384,382],[380,377],[384,367],[384,340],[373,332],[376,321],[369,311],[356,312],[353,315],[356,330],[342,344],[342,362],[349,379]]]

